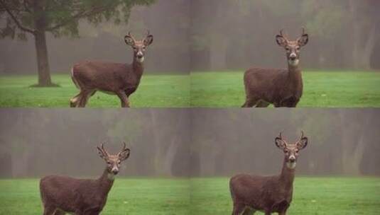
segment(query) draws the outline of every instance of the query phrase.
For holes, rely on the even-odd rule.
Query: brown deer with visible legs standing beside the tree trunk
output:
[[[135,40],[128,33],[124,40],[134,50],[132,64],[84,61],[72,66],[71,78],[80,93],[70,99],[70,107],[85,107],[89,97],[96,91],[102,91],[117,95],[121,100],[121,107],[129,108],[129,95],[139,86],[143,75],[144,54],[146,47],[153,42],[153,35],[148,31],[143,40]]]

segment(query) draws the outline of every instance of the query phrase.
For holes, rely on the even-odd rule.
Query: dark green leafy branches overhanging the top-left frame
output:
[[[28,1],[0,1],[0,18],[5,18],[5,26],[0,28],[1,37],[18,37],[26,40],[25,30],[19,30],[17,23],[5,8],[9,8],[20,25],[36,30],[36,19],[43,19],[43,26],[38,26],[52,33],[55,37],[78,37],[78,25],[85,19],[97,25],[103,21],[114,24],[127,23],[131,8],[137,5],[153,4],[155,0],[60,0],[40,1],[40,11]]]

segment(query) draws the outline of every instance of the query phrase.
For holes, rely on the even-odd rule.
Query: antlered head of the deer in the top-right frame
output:
[[[279,46],[285,48],[286,58],[288,64],[291,66],[298,66],[300,59],[300,47],[303,47],[308,43],[309,35],[305,33],[305,28],[302,28],[302,35],[297,40],[288,40],[286,35],[283,34],[283,30],[280,30],[280,34],[276,35],[276,42]]]

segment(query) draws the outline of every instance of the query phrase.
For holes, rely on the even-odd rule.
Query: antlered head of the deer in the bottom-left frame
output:
[[[110,174],[117,175],[119,173],[121,161],[125,161],[129,157],[130,149],[126,148],[125,142],[123,142],[123,149],[116,155],[110,155],[105,149],[104,144],[97,146],[99,156],[107,162],[107,171]]]

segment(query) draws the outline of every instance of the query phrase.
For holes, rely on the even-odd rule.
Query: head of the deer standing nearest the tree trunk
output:
[[[127,35],[125,35],[124,41],[126,45],[130,45],[134,49],[134,59],[136,59],[137,62],[142,63],[144,60],[146,47],[148,47],[148,45],[151,45],[153,42],[153,35],[151,35],[148,30],[146,37],[143,40],[135,40],[131,35],[131,32],[129,32]]]

